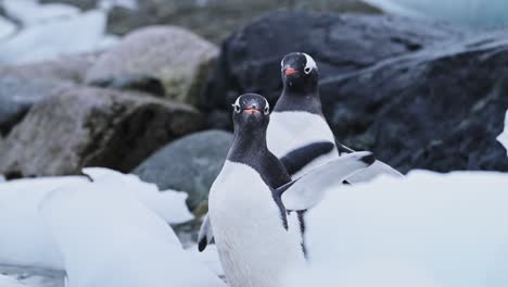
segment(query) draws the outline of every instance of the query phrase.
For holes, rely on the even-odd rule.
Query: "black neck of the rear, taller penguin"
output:
[[[274,108],[276,112],[305,111],[322,115],[321,100],[317,87],[301,89],[284,85],[282,95]]]

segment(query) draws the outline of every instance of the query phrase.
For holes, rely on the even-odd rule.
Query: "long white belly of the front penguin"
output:
[[[289,269],[305,264],[300,238],[284,228],[271,190],[249,165],[225,163],[208,213],[231,287],[279,287]]]

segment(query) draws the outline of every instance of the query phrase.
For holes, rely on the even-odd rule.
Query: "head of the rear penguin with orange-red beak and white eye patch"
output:
[[[314,59],[306,53],[289,53],[282,59],[281,73],[284,87],[305,89],[317,87],[319,73]]]

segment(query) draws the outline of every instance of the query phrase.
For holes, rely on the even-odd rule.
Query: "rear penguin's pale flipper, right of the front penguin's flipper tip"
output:
[[[339,150],[340,154],[344,154],[344,153],[347,154],[347,153],[355,152],[354,150],[350,149],[348,147],[342,145],[339,141],[335,141],[335,144],[336,144],[336,149]],[[374,177],[381,174],[391,175],[395,177],[404,177],[404,175],[399,173],[397,170],[393,169],[392,166],[388,165],[386,163],[382,161],[377,160],[368,169],[347,177],[345,180],[348,184],[366,183],[366,182],[372,180]]]

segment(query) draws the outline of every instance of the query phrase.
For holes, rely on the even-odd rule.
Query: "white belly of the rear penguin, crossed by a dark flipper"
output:
[[[313,142],[329,141],[335,145],[335,137],[321,115],[300,111],[271,113],[266,138],[268,149],[279,159]],[[292,177],[299,178],[338,158],[339,152],[335,147],[305,165]]]

